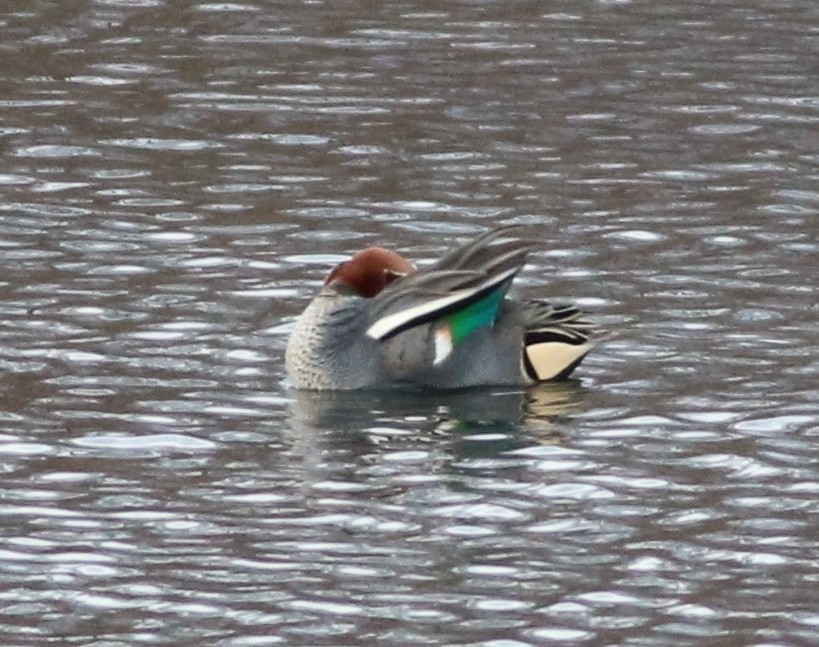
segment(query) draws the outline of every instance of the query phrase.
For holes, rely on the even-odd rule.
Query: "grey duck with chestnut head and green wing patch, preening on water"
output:
[[[420,268],[383,247],[359,251],[295,319],[290,384],[448,390],[568,378],[604,332],[573,304],[509,295],[535,247],[525,226],[508,225]]]

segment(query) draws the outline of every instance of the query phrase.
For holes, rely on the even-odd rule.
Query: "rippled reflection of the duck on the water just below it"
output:
[[[559,443],[562,422],[583,397],[579,381],[529,389],[294,392],[291,430],[295,444],[354,453],[419,443],[453,444],[461,457],[498,456],[534,444]],[[319,440],[321,439],[321,440]],[[329,446],[328,446],[329,443]]]

